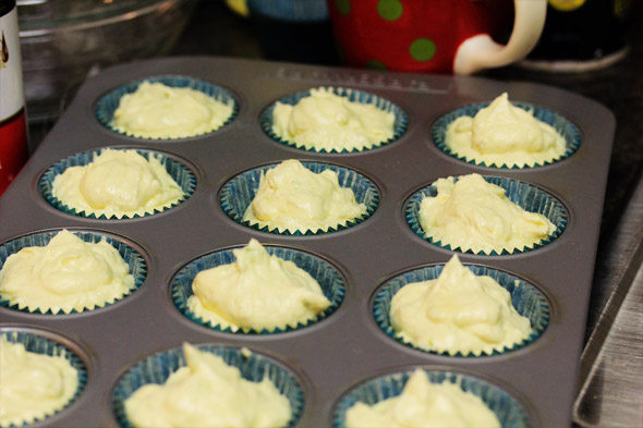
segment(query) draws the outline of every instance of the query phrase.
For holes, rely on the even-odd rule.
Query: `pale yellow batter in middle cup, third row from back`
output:
[[[198,272],[187,307],[232,331],[284,329],[306,323],[330,302],[317,281],[289,260],[270,256],[256,241],[233,249],[236,260]]]

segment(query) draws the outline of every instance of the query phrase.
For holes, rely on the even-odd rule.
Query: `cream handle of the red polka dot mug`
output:
[[[456,51],[453,73],[472,74],[526,57],[543,33],[547,0],[513,0],[513,30],[507,45],[498,45],[488,34],[468,38]]]

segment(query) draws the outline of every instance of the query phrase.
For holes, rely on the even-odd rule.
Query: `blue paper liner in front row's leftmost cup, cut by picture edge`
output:
[[[12,424],[9,427],[23,427],[26,425],[36,424],[38,421],[46,420],[47,418],[50,418],[61,412],[64,412],[85,390],[85,386],[87,384],[87,367],[85,366],[83,359],[63,343],[46,335],[51,337],[51,334],[40,335],[38,334],[37,330],[33,329],[0,327],[0,337],[3,337],[8,342],[21,343],[28,352],[49,356],[62,356],[64,359],[66,359],[71,366],[76,369],[78,375],[78,388],[76,389],[76,393],[70,399],[63,408],[53,411],[44,418],[38,418],[29,423],[25,421],[19,425]]]

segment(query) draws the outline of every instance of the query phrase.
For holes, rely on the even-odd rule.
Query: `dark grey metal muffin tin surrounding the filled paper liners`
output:
[[[218,131],[184,139],[133,138],[100,123],[96,109],[104,96],[156,76],[210,82],[225,88],[239,110]],[[353,88],[387,99],[403,112],[405,130],[381,147],[342,154],[298,149],[263,130],[263,112],[276,100],[318,86]],[[432,132],[439,118],[488,102],[504,91],[511,100],[538,106],[573,123],[579,130],[578,148],[551,164],[505,169],[468,163],[436,146]],[[278,362],[303,394],[294,427],[342,426],[338,412],[345,411],[345,401],[352,400],[354,391],[405,379],[416,367],[442,380],[466,379],[474,393],[494,391],[504,403],[499,412],[524,415],[512,417],[515,423],[507,426],[569,426],[614,130],[615,119],[603,106],[525,82],[214,57],[167,58],[105,70],[84,84],[0,198],[0,245],[36,233],[75,229],[119,236],[138,250],[147,267],[135,293],[96,310],[44,315],[0,307],[2,332],[64,338],[63,344],[86,368],[86,384],[77,399],[38,426],[121,426],[122,415],[114,404],[123,390],[119,380],[147,358],[175,354],[184,341],[217,348],[246,347]],[[48,169],[106,147],[153,150],[184,160],[195,178],[194,192],[170,209],[120,220],[74,216],[47,200],[39,183]],[[227,183],[291,158],[366,178],[377,189],[375,208],[349,228],[317,234],[269,233],[228,216],[221,204]],[[565,209],[561,233],[538,248],[502,255],[458,253],[463,264],[505,272],[532,285],[542,294],[536,301],[546,303],[546,325],[537,338],[511,352],[475,357],[416,350],[392,339],[378,325],[377,294],[401,273],[448,261],[453,252],[418,236],[407,220],[407,206],[438,178],[472,172],[529,183]],[[305,328],[270,334],[219,331],[184,316],[172,295],[181,269],[206,255],[245,245],[251,237],[312,255],[337,269],[345,293],[337,308]]]

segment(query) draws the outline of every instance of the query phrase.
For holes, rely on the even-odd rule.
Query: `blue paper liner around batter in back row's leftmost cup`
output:
[[[215,100],[222,102],[225,105],[232,105],[232,112],[230,113],[230,118],[228,118],[218,129],[208,131],[202,134],[191,135],[189,137],[181,137],[181,138],[155,138],[155,137],[142,137],[131,135],[129,133],[124,133],[122,131],[117,130],[113,126],[113,114],[114,111],[119,108],[119,103],[121,102],[121,98],[126,94],[132,94],[136,91],[138,86],[143,82],[149,83],[162,83],[166,86],[175,87],[175,88],[191,88],[194,90],[198,90],[204,93],[205,95],[214,98]],[[221,86],[214,85],[206,81],[196,80],[193,77],[187,76],[174,76],[174,75],[163,75],[163,76],[151,76],[147,78],[142,78],[139,81],[131,82],[126,85],[120,86],[105,96],[102,96],[97,105],[96,105],[96,119],[98,122],[107,127],[110,131],[113,131],[121,135],[128,135],[132,138],[139,138],[139,139],[160,139],[160,140],[175,140],[175,139],[184,139],[184,138],[193,138],[202,135],[211,134],[230,122],[232,122],[236,115],[239,114],[239,102],[236,98],[230,93],[228,89],[225,89]]]

